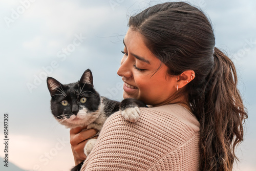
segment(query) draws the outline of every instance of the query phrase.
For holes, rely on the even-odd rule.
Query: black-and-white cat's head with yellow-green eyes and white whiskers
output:
[[[84,71],[78,82],[61,84],[47,78],[53,116],[67,127],[86,126],[99,115],[100,96],[93,88],[91,70]]]

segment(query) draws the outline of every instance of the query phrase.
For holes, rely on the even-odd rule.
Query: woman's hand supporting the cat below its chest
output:
[[[98,133],[95,129],[85,129],[86,127],[75,127],[74,129],[70,129],[70,144],[76,165],[86,160],[87,156],[84,154],[84,146],[89,138]],[[98,138],[98,136],[93,138]]]

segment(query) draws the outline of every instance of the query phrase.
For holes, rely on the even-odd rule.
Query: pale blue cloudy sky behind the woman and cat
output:
[[[122,58],[127,21],[141,10],[167,1],[20,0],[0,1],[0,137],[8,114],[8,161],[24,170],[66,171],[74,166],[69,129],[50,111],[46,77],[76,82],[91,69],[102,96],[122,100]],[[210,18],[216,47],[224,50],[238,71],[239,90],[249,118],[237,149],[234,170],[256,170],[256,2],[187,1]],[[5,141],[4,141],[5,142]],[[4,158],[5,144],[0,143]],[[0,170],[10,170],[0,164]]]

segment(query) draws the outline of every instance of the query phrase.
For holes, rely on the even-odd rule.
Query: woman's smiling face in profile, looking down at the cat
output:
[[[123,58],[117,74],[122,77],[123,98],[135,98],[150,105],[169,103],[177,91],[176,77],[145,46],[142,35],[131,28],[124,39]]]

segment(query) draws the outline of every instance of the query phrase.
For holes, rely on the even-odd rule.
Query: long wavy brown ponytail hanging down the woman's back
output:
[[[218,48],[214,61],[200,89],[201,97],[192,105],[201,124],[200,170],[231,171],[234,160],[238,160],[234,151],[243,140],[243,122],[248,115],[233,62]]]

